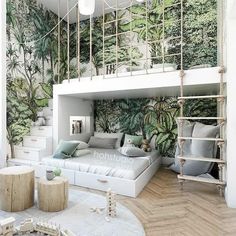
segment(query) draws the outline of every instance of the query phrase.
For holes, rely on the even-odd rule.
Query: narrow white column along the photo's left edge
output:
[[[0,167],[6,164],[6,0],[0,1]]]

